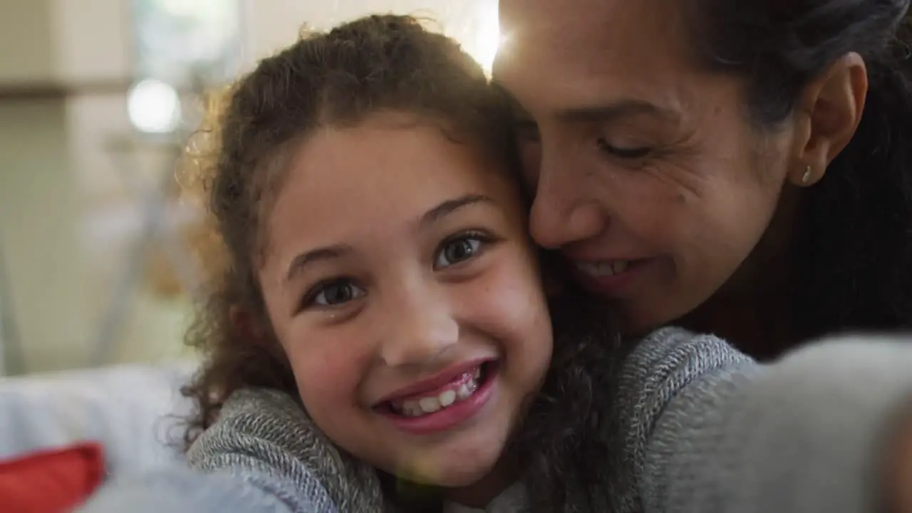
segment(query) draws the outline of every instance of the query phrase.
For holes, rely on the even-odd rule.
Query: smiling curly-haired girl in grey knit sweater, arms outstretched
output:
[[[191,332],[195,472],[87,510],[902,510],[912,351],[761,367],[676,329],[621,348],[575,293],[549,308],[508,122],[408,17],[242,79],[198,170],[227,259]]]

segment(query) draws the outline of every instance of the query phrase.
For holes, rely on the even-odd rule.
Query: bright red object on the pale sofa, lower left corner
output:
[[[0,461],[0,513],[65,513],[105,475],[101,445],[78,444]]]

